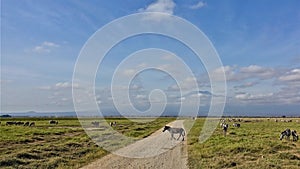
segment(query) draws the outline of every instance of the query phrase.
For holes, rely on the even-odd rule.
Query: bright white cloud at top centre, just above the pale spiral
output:
[[[174,8],[176,4],[173,2],[173,0],[157,0],[156,2],[150,4],[149,6],[145,8],[141,8],[138,11],[139,12],[161,12],[173,15]],[[149,14],[147,15],[146,20],[153,20],[153,21],[161,21],[163,19],[167,19],[165,15],[157,14]]]

